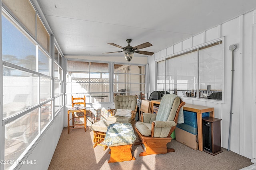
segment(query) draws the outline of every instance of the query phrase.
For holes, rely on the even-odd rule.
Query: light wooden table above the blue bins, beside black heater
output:
[[[202,113],[210,112],[210,117],[214,117],[214,107],[206,107],[194,104],[185,104],[183,110],[196,112],[197,118],[197,131],[198,131],[198,148],[203,151],[203,124],[202,124]]]

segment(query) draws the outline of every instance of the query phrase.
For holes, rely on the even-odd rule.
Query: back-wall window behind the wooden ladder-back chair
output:
[[[86,103],[109,102],[109,64],[67,61],[66,96],[86,96]]]

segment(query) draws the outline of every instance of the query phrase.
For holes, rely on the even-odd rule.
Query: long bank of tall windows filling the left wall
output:
[[[63,106],[63,71],[57,63],[54,67],[57,74],[52,77],[50,34],[30,0],[2,2],[3,99],[0,102],[3,112],[0,116],[4,139],[0,140],[4,145],[0,150],[4,155],[0,155],[0,160],[12,163],[0,164],[0,169],[13,169],[49,127],[54,119],[54,107],[60,111]],[[62,60],[62,56],[58,58]]]

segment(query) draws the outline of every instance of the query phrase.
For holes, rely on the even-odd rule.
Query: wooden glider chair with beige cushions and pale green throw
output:
[[[174,131],[180,111],[183,116],[183,102],[179,96],[175,94],[166,94],[163,96],[157,114],[143,113],[142,122],[136,122],[135,130],[138,134],[140,142],[135,145],[144,145],[139,156],[149,154],[166,154],[174,152],[174,149],[168,149],[167,143],[172,141],[170,135]],[[183,121],[183,117],[181,117]]]

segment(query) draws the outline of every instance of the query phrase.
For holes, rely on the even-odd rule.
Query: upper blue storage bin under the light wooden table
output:
[[[183,111],[184,113],[184,123],[197,128],[197,118],[196,118],[196,112],[192,111]],[[202,113],[202,117],[209,117],[210,112]]]

